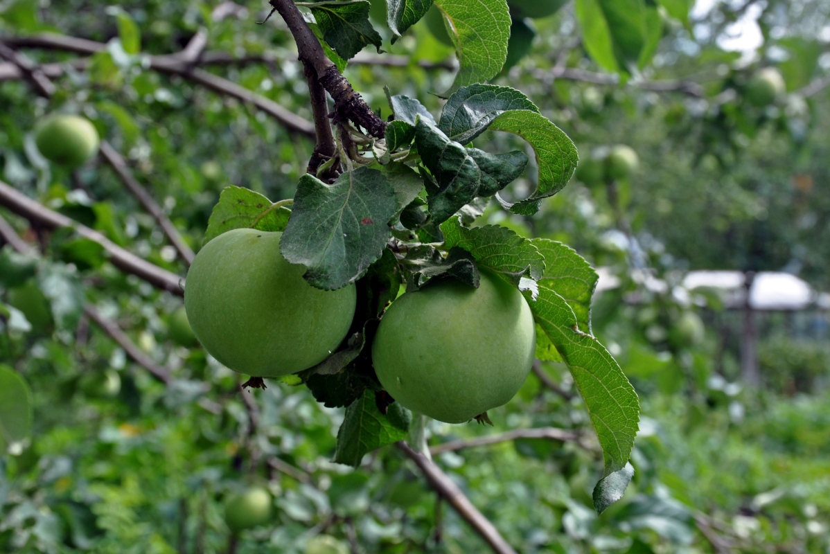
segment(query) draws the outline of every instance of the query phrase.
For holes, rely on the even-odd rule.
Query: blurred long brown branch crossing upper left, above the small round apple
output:
[[[103,42],[88,41],[74,36],[52,34],[10,37],[4,39],[4,41],[14,47],[49,48],[85,55],[95,54],[95,52],[103,50],[106,47]],[[306,119],[283,108],[273,100],[257,95],[253,91],[237,85],[230,80],[223,79],[205,70],[193,69],[193,61],[184,58],[181,52],[167,56],[148,56],[147,60],[149,61],[149,67],[153,70],[168,75],[180,75],[185,79],[192,80],[199,85],[214,90],[221,95],[230,96],[237,100],[242,100],[242,102],[252,104],[281,124],[284,124],[291,131],[305,134],[309,137],[315,136],[314,125]],[[49,73],[46,72],[45,68],[46,66],[42,66],[41,70],[44,70],[46,75],[51,73],[50,76],[57,76],[55,75],[56,65],[50,64],[48,66]],[[2,69],[0,71],[0,79],[2,79],[3,74],[9,75],[11,72],[8,68]]]

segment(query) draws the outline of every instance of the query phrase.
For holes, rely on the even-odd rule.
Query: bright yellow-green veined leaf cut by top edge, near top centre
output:
[[[507,59],[510,9],[504,0],[437,0],[456,47],[458,75],[451,90],[496,76]]]

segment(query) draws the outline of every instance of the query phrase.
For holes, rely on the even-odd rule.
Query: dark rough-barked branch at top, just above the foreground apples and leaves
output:
[[[386,122],[369,108],[369,104],[354,91],[349,81],[339,72],[337,66],[334,66],[334,62],[325,56],[320,41],[311,32],[294,1],[271,0],[270,3],[286,21],[288,30],[294,36],[300,61],[315,71],[320,85],[323,85],[334,99],[337,117],[343,121],[352,121],[372,136],[383,139]]]

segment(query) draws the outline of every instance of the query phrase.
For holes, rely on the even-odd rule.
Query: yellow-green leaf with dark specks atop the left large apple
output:
[[[244,187],[225,187],[207,220],[204,243],[232,229],[283,231],[289,216],[291,210],[271,202],[259,192]]]

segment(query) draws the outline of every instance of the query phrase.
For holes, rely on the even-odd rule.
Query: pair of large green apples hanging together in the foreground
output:
[[[315,289],[280,254],[281,233],[234,229],[209,241],[188,272],[193,333],[225,366],[252,377],[301,372],[352,328],[356,289]],[[362,324],[362,322],[359,322]],[[460,423],[519,390],[535,352],[535,323],[513,285],[481,270],[477,289],[454,280],[406,292],[372,344],[378,381],[403,406]]]

